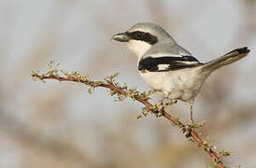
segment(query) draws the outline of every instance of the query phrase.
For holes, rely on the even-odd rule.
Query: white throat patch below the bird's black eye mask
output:
[[[129,40],[127,43],[128,49],[131,49],[135,52],[135,55],[140,59],[145,52],[147,52],[151,45],[149,43],[146,43],[144,41],[139,40]]]

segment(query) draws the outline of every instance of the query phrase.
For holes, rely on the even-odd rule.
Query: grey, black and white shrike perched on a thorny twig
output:
[[[190,104],[193,124],[193,103],[206,78],[227,64],[246,57],[247,47],[234,49],[219,58],[201,63],[191,52],[178,45],[164,29],[151,22],[135,23],[112,40],[127,44],[137,57],[137,70],[150,88],[171,101]]]

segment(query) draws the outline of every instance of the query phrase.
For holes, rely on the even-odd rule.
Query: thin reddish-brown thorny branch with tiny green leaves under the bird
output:
[[[224,165],[223,161],[221,161],[221,158],[223,156],[229,156],[232,154],[232,152],[223,151],[220,150],[220,152],[216,152],[214,149],[216,147],[209,146],[208,143],[203,140],[201,133],[198,133],[196,131],[197,128],[202,127],[204,125],[204,122],[201,122],[199,124],[194,124],[189,127],[184,123],[182,123],[179,119],[173,117],[169,113],[167,113],[164,110],[164,106],[162,105],[152,105],[149,103],[149,95],[153,94],[154,91],[147,92],[139,92],[135,89],[128,89],[126,84],[123,86],[120,86],[118,83],[115,82],[115,78],[118,77],[118,74],[115,74],[110,77],[105,77],[104,81],[92,81],[89,79],[88,76],[81,76],[78,72],[73,73],[67,73],[64,70],[61,70],[58,68],[57,64],[55,67],[52,66],[53,61],[48,63],[48,69],[49,71],[45,74],[39,75],[39,72],[32,73],[31,77],[33,77],[34,80],[41,80],[45,81],[45,79],[54,79],[58,81],[71,81],[71,82],[78,82],[83,83],[85,85],[90,86],[91,88],[88,90],[90,93],[92,93],[92,90],[97,87],[103,87],[109,89],[110,95],[117,95],[116,101],[123,101],[125,98],[130,97],[134,101],[140,102],[141,104],[145,105],[142,110],[142,114],[144,116],[147,116],[149,113],[153,113],[156,115],[156,117],[164,116],[164,118],[169,119],[173,125],[178,126],[183,133],[186,133],[186,137],[194,142],[198,147],[202,147],[206,153],[212,158],[213,164],[211,166],[213,167],[219,167],[219,168],[227,168],[226,165]],[[171,105],[171,104],[169,104]],[[139,115],[137,119],[141,118],[142,116]]]

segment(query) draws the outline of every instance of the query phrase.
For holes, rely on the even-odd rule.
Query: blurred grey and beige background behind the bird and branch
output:
[[[210,158],[164,118],[135,119],[142,105],[115,103],[105,89],[31,80],[50,60],[92,79],[149,87],[135,56],[112,35],[139,21],[161,24],[201,62],[248,46],[249,57],[206,80],[194,119],[231,167],[256,167],[256,1],[0,0],[0,167],[193,168]],[[156,102],[159,98],[156,97]],[[189,105],[170,113],[186,121]]]

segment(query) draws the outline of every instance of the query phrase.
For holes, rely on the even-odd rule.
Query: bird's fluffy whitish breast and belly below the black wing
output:
[[[152,89],[163,92],[170,99],[185,102],[194,99],[208,77],[198,67],[169,72],[140,72],[140,75]]]

